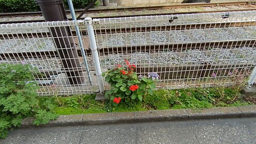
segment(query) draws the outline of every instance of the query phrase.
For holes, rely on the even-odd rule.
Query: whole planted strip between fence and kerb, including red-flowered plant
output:
[[[138,76],[136,66],[125,60],[126,65],[118,65],[103,73],[110,84],[105,101],[95,101],[95,94],[72,97],[44,97],[41,103],[51,99],[60,115],[106,113],[121,111],[163,110],[183,108],[211,108],[255,105],[254,96],[245,96],[240,91],[244,77],[237,76],[234,86],[178,90],[155,90],[159,76],[149,73]]]

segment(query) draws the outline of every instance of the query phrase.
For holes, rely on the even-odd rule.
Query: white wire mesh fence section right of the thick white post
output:
[[[239,83],[255,67],[255,13],[94,19],[102,67],[129,60],[165,89]]]

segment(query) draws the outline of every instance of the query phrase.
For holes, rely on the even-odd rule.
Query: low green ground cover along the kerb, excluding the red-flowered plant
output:
[[[72,99],[72,100],[71,100]],[[73,96],[40,97],[40,103],[51,100],[59,115],[91,114],[109,112],[109,102],[95,101],[95,94]],[[68,101],[68,102],[67,102]],[[211,108],[256,105],[256,97],[244,95],[237,87],[212,87],[178,90],[156,90],[146,95],[142,101],[120,101],[112,112],[145,111],[183,108]]]

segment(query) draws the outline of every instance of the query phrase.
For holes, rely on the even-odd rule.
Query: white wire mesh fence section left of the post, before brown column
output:
[[[0,62],[26,63],[38,68],[44,75],[35,76],[41,86],[40,95],[98,92],[89,43],[84,43],[84,59],[74,30],[76,25],[84,25],[84,21],[1,25]],[[81,33],[87,35],[86,30]],[[87,68],[84,60],[89,63]]]

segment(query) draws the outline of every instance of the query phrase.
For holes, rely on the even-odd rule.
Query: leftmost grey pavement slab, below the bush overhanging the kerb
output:
[[[18,129],[11,132],[7,139],[0,140],[0,143],[79,143],[82,130],[82,126]]]

